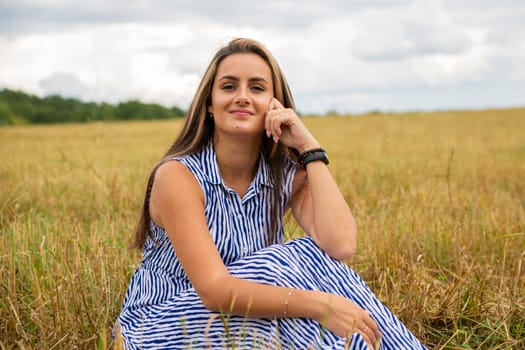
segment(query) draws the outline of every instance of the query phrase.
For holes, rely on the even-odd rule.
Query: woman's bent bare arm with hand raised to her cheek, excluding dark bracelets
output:
[[[319,143],[297,114],[274,101],[266,121],[271,135],[301,153],[318,148]],[[327,254],[341,260],[355,253],[357,226],[354,217],[323,162],[311,162],[306,171],[297,172],[291,206],[297,223]]]

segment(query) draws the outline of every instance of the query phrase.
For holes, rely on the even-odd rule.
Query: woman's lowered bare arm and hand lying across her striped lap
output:
[[[172,161],[159,167],[150,210],[153,220],[166,230],[179,261],[208,309],[250,317],[283,317],[288,299],[287,317],[314,319],[340,336],[359,331],[370,344],[377,339],[379,333],[374,321],[346,298],[296,289],[289,295],[290,288],[232,277],[208,231],[204,194],[183,164]]]

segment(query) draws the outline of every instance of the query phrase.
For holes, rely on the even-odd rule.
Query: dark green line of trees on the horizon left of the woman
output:
[[[109,120],[168,119],[184,116],[185,111],[137,100],[109,103],[83,102],[58,95],[38,97],[19,90],[0,91],[0,126],[49,124]]]

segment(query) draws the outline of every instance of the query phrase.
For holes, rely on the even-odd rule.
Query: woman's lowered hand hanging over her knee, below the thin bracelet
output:
[[[340,295],[322,293],[321,298],[324,304],[321,310],[324,308],[325,311],[319,314],[316,321],[340,337],[359,333],[373,349],[376,348],[381,333],[370,312]]]

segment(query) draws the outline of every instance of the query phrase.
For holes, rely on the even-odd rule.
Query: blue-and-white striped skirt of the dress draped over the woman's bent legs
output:
[[[310,237],[269,246],[227,267],[232,276],[253,282],[345,296],[371,312],[381,331],[380,349],[425,349],[350,267]],[[140,268],[131,284],[157,278]],[[342,338],[311,319],[211,312],[193,288],[156,305],[123,310],[118,323],[126,349],[368,349],[360,334]]]

